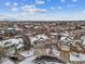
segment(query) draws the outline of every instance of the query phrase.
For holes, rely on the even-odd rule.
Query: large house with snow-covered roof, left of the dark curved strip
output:
[[[15,53],[15,46],[16,46],[17,50],[20,50],[22,48],[24,48],[22,38],[2,40],[2,41],[0,41],[0,43],[2,43],[4,46],[5,52],[8,52],[6,54],[9,54],[9,55]]]

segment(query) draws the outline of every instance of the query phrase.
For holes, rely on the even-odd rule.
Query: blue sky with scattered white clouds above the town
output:
[[[84,21],[85,0],[0,0],[0,20]]]

